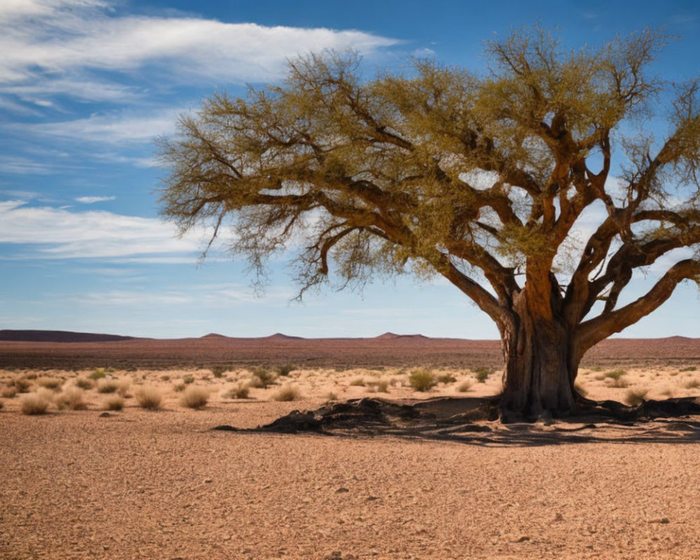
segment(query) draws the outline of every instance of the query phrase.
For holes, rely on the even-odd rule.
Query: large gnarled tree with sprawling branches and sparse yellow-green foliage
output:
[[[584,353],[700,279],[699,85],[647,76],[665,42],[568,51],[524,29],[489,43],[482,74],[419,60],[374,79],[353,55],[297,59],[282,85],[181,118],[162,212],[214,237],[232,218],[258,269],[301,243],[300,293],[440,274],[498,325],[504,418],[567,414]]]

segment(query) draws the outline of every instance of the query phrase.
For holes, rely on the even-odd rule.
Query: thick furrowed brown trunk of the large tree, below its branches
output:
[[[580,361],[573,333],[556,316],[535,318],[520,311],[512,324],[501,329],[502,421],[567,416],[575,408],[573,383]]]

